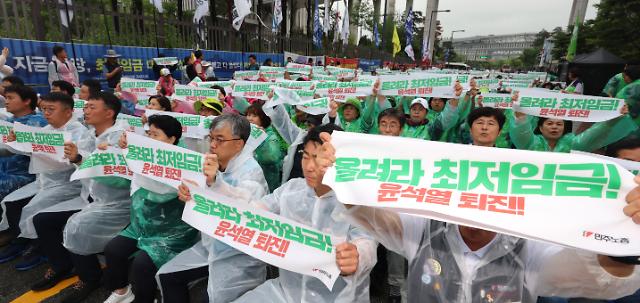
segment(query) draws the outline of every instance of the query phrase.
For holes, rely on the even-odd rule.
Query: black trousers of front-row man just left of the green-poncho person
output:
[[[94,254],[83,256],[69,252],[62,245],[62,231],[67,220],[79,210],[39,213],[33,217],[38,234],[38,243],[51,268],[57,273],[69,272],[73,268],[80,280],[99,283],[102,277],[100,262]]]

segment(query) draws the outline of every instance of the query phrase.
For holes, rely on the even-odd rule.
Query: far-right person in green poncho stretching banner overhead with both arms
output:
[[[589,129],[575,135],[569,121],[540,118],[535,129],[530,117],[514,112],[514,123],[509,130],[511,141],[518,149],[568,153],[571,150],[592,152],[629,135],[637,126],[626,117],[627,106],[621,116],[609,121],[593,124]]]

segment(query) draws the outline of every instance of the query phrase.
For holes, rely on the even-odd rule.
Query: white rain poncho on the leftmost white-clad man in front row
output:
[[[69,120],[61,128],[47,125],[43,129],[69,132],[71,141],[76,143],[80,151],[86,152],[95,149],[94,140],[91,138],[89,130],[75,119]],[[38,154],[31,155],[29,172],[37,173],[38,193],[22,209],[20,237],[37,238],[33,217],[41,212],[69,211],[81,209],[87,205],[88,191],[82,190],[83,186],[80,181],[69,181],[75,168],[75,165],[71,163],[56,162]],[[5,221],[6,218],[3,217],[3,223],[0,226],[7,226]]]

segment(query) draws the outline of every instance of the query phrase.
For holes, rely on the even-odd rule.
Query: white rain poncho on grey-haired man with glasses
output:
[[[245,147],[224,172],[218,171],[211,190],[247,202],[268,193],[253,148]],[[158,275],[203,266],[209,266],[209,302],[230,302],[262,284],[267,274],[262,261],[202,234],[202,241],[162,266]]]

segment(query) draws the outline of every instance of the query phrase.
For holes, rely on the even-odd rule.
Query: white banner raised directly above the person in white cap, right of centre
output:
[[[380,94],[453,98],[455,79],[455,75],[380,76]]]

